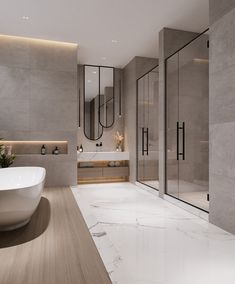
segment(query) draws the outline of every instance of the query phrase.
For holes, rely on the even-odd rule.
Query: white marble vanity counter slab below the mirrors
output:
[[[78,162],[129,160],[129,152],[78,152]]]

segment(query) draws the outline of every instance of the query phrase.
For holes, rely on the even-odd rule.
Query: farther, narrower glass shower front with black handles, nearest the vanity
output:
[[[154,189],[158,174],[158,67],[137,80],[137,180]]]

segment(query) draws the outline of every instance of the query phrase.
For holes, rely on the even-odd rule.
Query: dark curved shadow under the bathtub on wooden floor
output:
[[[0,248],[17,246],[36,239],[47,229],[50,216],[50,203],[48,199],[42,197],[27,225],[13,231],[0,232]]]

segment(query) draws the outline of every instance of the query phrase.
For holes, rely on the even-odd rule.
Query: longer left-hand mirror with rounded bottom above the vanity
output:
[[[84,133],[90,140],[103,134],[99,123],[99,67],[84,65]]]

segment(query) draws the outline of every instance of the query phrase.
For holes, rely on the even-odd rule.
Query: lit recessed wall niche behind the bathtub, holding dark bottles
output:
[[[47,155],[52,155],[52,151],[57,146],[60,152],[60,155],[68,154],[68,141],[8,141],[1,140],[0,144],[5,145],[6,147],[11,147],[11,152],[19,155],[41,155],[41,147],[45,145]]]

